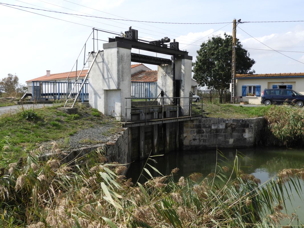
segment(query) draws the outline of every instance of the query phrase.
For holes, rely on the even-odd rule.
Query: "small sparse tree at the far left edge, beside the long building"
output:
[[[26,87],[19,84],[17,75],[8,74],[7,77],[2,78],[0,81],[0,89],[5,92],[6,96],[20,96]]]

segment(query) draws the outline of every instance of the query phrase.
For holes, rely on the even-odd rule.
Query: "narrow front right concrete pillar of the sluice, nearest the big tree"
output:
[[[175,79],[181,80],[181,97],[189,97],[191,91],[191,75],[192,75],[192,56],[184,55],[177,57],[175,60]],[[181,114],[184,116],[189,115],[189,99],[184,98],[180,100]]]

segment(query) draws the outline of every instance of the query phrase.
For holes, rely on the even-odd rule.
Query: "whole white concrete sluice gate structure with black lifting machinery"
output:
[[[192,56],[179,50],[175,40],[168,47],[165,43],[170,39],[167,37],[141,41],[137,39],[137,30],[130,28],[124,37],[109,38],[109,43],[103,44],[103,50],[95,52],[89,59],[92,65],[88,74],[89,104],[129,127],[132,160],[178,149],[180,124],[202,118],[202,115],[191,115]],[[171,59],[131,53],[132,48],[166,54]],[[159,97],[154,102],[153,98],[132,101],[131,62],[158,66]]]

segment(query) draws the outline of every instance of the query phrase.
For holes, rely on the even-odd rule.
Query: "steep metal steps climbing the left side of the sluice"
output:
[[[96,60],[96,57],[97,57],[97,55],[99,54],[99,52],[100,52],[100,51],[98,51],[98,52],[95,53],[94,51],[91,51],[91,53],[89,54],[89,56],[94,56],[94,59],[93,59],[93,61],[92,61],[91,66],[90,66],[89,69],[88,69],[88,72],[87,72],[86,75],[85,75],[85,78],[83,79],[83,81],[82,81],[82,83],[81,83],[81,86],[79,87],[79,86],[77,86],[76,83],[77,83],[77,81],[79,80],[79,78],[82,77],[81,74],[85,74],[85,73],[82,73],[82,71],[83,71],[83,69],[85,68],[85,65],[87,64],[87,62],[88,62],[88,60],[89,60],[89,57],[88,57],[88,59],[87,59],[86,61],[84,61],[83,67],[82,67],[80,73],[78,74],[78,76],[77,76],[77,78],[76,78],[76,80],[75,80],[74,86],[73,86],[73,88],[71,89],[69,95],[67,96],[67,100],[66,100],[65,103],[64,103],[64,107],[73,108],[74,105],[75,105],[75,103],[77,102],[77,99],[80,98],[79,95],[82,93],[82,88],[84,87],[84,85],[85,85],[85,83],[86,83],[86,80],[87,80],[87,78],[88,78],[88,74],[90,73],[90,71],[91,71],[91,69],[92,69],[92,66],[93,66],[93,64],[94,64],[94,62],[95,62],[95,60]],[[93,55],[94,53],[95,53],[95,55]],[[77,61],[76,61],[76,62],[77,62]],[[71,73],[70,73],[70,74],[71,74]],[[69,80],[70,74],[67,76],[66,81]],[[76,74],[77,74],[77,67],[76,67]],[[81,80],[82,80],[82,79],[81,79]]]

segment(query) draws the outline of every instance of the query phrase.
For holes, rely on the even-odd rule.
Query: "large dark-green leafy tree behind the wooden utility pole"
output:
[[[207,86],[210,89],[219,91],[219,102],[222,103],[223,92],[229,88],[232,72],[232,36],[224,33],[221,36],[213,36],[203,42],[197,51],[196,61],[193,65],[193,78],[200,86]],[[237,39],[236,48],[236,72],[237,74],[253,74],[251,70],[255,63],[250,54],[243,48]]]

